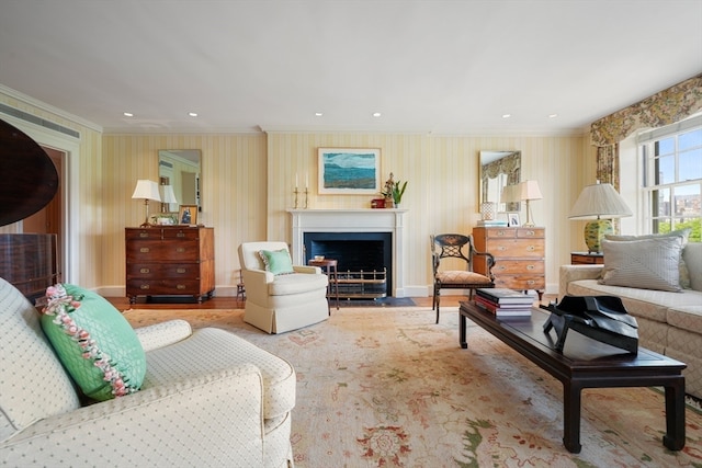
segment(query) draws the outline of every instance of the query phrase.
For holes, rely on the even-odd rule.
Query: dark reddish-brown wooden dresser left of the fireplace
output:
[[[158,226],[125,229],[126,293],[192,296],[199,303],[215,289],[214,229]]]

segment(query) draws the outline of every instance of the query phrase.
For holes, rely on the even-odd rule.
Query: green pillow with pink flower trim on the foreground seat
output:
[[[50,286],[46,299],[42,329],[86,396],[103,401],[141,387],[146,354],[112,304],[69,284]]]

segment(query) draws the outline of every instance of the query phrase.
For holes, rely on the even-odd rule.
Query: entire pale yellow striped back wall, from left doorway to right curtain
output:
[[[539,181],[544,199],[532,203],[546,227],[546,282],[555,290],[558,266],[581,249],[581,227],[567,220],[581,187],[593,178],[593,151],[586,136],[429,136],[416,134],[271,133],[257,135],[101,135],[0,93],[0,101],[81,132],[78,162],[80,272],[77,282],[107,295],[123,294],[124,228],[144,219],[131,198],[137,179],[158,180],[159,149],[202,149],[201,221],[215,228],[216,284],[236,284],[236,248],[259,239],[291,240],[295,173],[309,178],[309,207],[369,207],[371,196],[319,195],[317,148],[381,148],[383,180],[407,180],[409,210],[407,286],[430,284],[429,235],[469,232],[479,219],[478,152],[521,150],[522,178]],[[154,209],[157,209],[154,206]],[[525,213],[522,212],[525,219]],[[11,229],[9,228],[4,228]],[[10,230],[11,231],[11,230]]]

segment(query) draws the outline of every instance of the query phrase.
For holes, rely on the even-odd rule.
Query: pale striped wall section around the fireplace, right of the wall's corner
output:
[[[532,202],[534,219],[546,227],[546,282],[554,289],[558,265],[569,263],[573,226],[567,221],[570,196],[584,185],[584,136],[565,137],[463,137],[406,134],[314,134],[273,133],[269,147],[269,239],[291,240],[290,214],[294,203],[295,174],[309,174],[309,207],[370,207],[371,196],[320,195],[317,191],[319,147],[380,148],[383,181],[393,172],[409,181],[403,208],[409,209],[406,261],[407,286],[431,283],[429,236],[469,232],[479,219],[478,152],[521,150],[522,179],[539,181],[544,199]],[[587,179],[585,176],[585,179]],[[525,212],[522,212],[525,219]]]

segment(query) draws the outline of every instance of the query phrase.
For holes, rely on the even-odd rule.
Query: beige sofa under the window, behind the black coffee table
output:
[[[639,344],[686,363],[686,392],[702,398],[702,243],[688,243],[682,258],[690,272],[690,289],[609,286],[598,283],[603,265],[562,265],[558,296],[621,297],[638,322]]]

